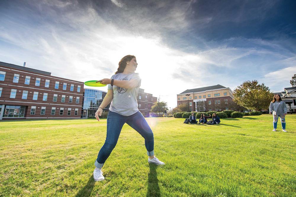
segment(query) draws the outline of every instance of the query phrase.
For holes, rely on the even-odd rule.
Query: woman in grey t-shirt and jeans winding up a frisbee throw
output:
[[[137,95],[141,85],[141,78],[135,73],[137,60],[133,55],[124,56],[118,63],[118,70],[111,79],[102,79],[97,82],[108,84],[108,92],[102,104],[96,111],[95,117],[100,121],[99,116],[103,109],[110,103],[107,117],[107,137],[104,145],[99,151],[94,163],[94,180],[102,181],[104,176],[102,167],[116,146],[120,131],[127,123],[145,139],[148,162],[156,165],[164,165],[154,156],[154,137],[151,128],[138,110]]]

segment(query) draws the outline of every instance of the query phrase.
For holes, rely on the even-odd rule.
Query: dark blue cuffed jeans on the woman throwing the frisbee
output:
[[[147,149],[147,155],[154,155],[154,137],[151,128],[141,112],[136,112],[130,116],[123,116],[115,112],[109,112],[107,117],[107,137],[104,145],[99,151],[98,158],[94,165],[97,168],[102,168],[107,158],[110,156],[113,148],[116,146],[120,131],[127,123],[134,130],[142,135],[145,139],[145,147]]]

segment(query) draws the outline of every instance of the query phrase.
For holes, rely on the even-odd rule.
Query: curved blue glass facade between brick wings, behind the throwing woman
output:
[[[83,112],[81,113],[81,116],[83,118],[94,116],[96,113],[96,110],[99,108],[106,94],[107,92],[103,92],[100,90],[84,89],[83,108],[82,108]],[[103,111],[108,112],[109,107],[110,107],[110,104],[107,105]]]

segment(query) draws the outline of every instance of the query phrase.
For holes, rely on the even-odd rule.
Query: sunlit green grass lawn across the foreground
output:
[[[146,120],[166,164],[149,165],[144,139],[124,125],[103,182],[92,172],[106,119],[0,122],[0,196],[296,196],[296,115],[289,133],[272,132],[267,114]]]

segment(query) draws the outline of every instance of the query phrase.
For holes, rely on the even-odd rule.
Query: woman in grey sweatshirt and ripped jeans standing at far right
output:
[[[287,115],[287,106],[285,101],[281,100],[281,96],[279,96],[279,94],[274,95],[274,100],[272,100],[269,105],[269,114],[272,114],[274,117],[274,129],[272,131],[276,131],[277,121],[280,117],[281,127],[284,132],[287,132],[285,120],[285,116]]]

